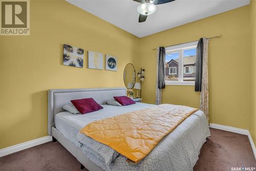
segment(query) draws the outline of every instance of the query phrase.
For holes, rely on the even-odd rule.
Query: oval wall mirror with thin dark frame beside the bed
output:
[[[132,63],[128,63],[123,71],[123,82],[127,89],[133,89],[136,81],[136,72]]]

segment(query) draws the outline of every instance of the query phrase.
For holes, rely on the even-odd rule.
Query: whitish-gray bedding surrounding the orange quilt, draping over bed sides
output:
[[[141,162],[135,165],[130,164],[126,162],[124,156],[115,154],[112,148],[80,134],[79,130],[99,119],[151,108],[155,105],[136,103],[127,106],[102,106],[104,109],[84,115],[73,115],[69,112],[58,113],[55,116],[55,126],[63,136],[77,145],[92,162],[103,170],[193,170],[200,148],[210,136],[204,113],[197,111],[179,124],[172,133],[165,136]]]

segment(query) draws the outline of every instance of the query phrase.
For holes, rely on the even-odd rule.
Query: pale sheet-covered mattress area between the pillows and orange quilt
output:
[[[55,127],[63,136],[69,139],[77,147],[80,147],[80,143],[77,141],[76,136],[79,133],[79,130],[81,130],[82,127],[86,126],[88,123],[136,110],[150,108],[152,106],[155,106],[155,104],[136,103],[126,106],[102,104],[102,110],[85,115],[74,115],[70,112],[60,112],[55,115]]]

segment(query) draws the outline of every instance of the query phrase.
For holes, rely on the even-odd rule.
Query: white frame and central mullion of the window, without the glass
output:
[[[184,72],[184,62],[183,62],[183,52],[185,50],[189,49],[195,49],[197,48],[198,41],[192,41],[185,44],[170,46],[165,48],[165,53],[167,54],[173,54],[173,53],[179,53],[179,75],[178,80],[165,80],[165,84],[167,86],[195,86],[195,81],[183,81],[184,74],[189,74]],[[181,63],[181,65],[180,65]],[[170,70],[170,69],[169,69]],[[177,74],[177,68],[176,68],[176,74]]]

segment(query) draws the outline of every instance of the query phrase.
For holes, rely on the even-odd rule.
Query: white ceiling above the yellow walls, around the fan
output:
[[[132,0],[66,0],[137,37],[216,15],[250,3],[250,0],[176,0],[157,5],[157,11],[138,23],[139,3]]]

